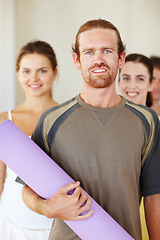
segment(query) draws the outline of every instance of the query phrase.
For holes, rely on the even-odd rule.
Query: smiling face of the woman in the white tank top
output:
[[[18,80],[26,96],[50,96],[51,86],[56,77],[50,60],[38,53],[27,54],[22,58],[18,70]]]

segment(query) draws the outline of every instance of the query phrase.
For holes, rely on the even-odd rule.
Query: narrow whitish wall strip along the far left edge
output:
[[[0,0],[0,111],[15,106],[14,2]]]

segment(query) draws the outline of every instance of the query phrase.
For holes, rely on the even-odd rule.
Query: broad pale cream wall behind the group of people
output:
[[[33,39],[49,42],[57,54],[59,76],[53,86],[54,98],[61,103],[81,91],[81,75],[73,65],[71,46],[78,28],[87,20],[105,18],[115,24],[126,43],[127,53],[160,55],[159,0],[0,0],[0,4],[3,7],[0,18],[5,19],[7,12],[10,13],[3,26],[0,25],[3,30],[8,29],[5,39],[9,39],[9,45],[3,44],[0,50],[8,60],[12,58],[5,63],[5,71],[2,69],[0,91],[8,92],[6,79],[15,87],[10,91],[15,102],[13,99],[8,102],[9,96],[2,97],[0,111],[7,110],[11,101],[14,107],[23,100],[14,64],[20,47]],[[0,34],[4,43],[2,30]],[[0,61],[3,61],[1,55]]]

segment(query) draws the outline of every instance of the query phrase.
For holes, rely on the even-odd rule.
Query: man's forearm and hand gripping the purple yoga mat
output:
[[[89,210],[91,200],[79,185],[79,182],[69,183],[60,188],[49,199],[41,198],[29,187],[24,186],[22,191],[23,200],[31,210],[48,218],[59,218],[62,220],[87,219],[93,214],[93,211]],[[69,195],[68,192],[73,189],[73,194]]]

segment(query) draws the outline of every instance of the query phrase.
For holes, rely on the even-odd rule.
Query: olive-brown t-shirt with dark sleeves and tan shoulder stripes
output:
[[[153,110],[125,98],[116,107],[97,108],[76,96],[41,116],[33,140],[134,239],[141,239],[141,196],[160,193],[159,120]],[[49,239],[80,238],[55,219]]]

